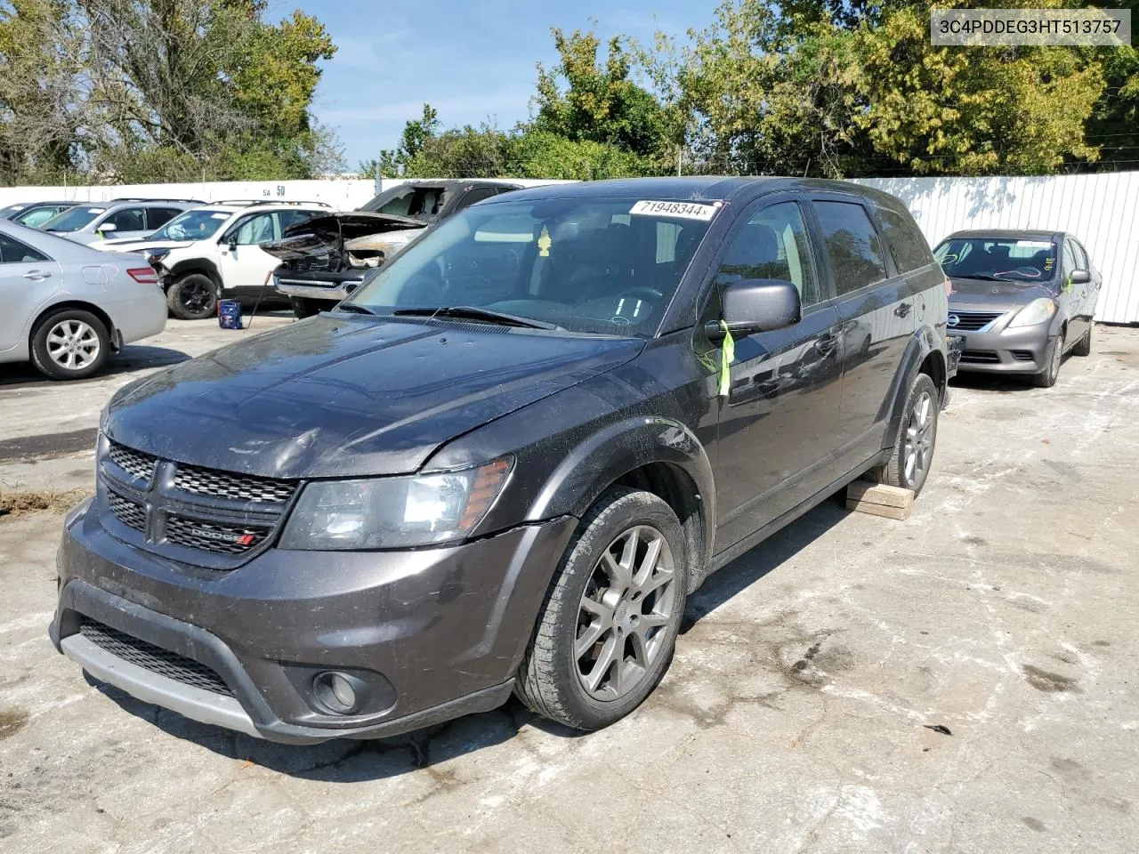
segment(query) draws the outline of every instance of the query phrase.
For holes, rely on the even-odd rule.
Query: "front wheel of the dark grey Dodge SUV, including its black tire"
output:
[[[662,584],[659,592],[642,596],[636,583],[637,573],[630,578],[630,586],[616,593],[618,586],[612,584],[612,576],[603,567],[605,552],[626,542],[634,528],[639,536],[659,534],[667,544],[671,581]],[[631,553],[637,556],[636,561],[648,553],[647,548],[641,550],[645,545],[645,541],[633,544]],[[665,556],[663,545],[658,548]],[[630,563],[636,566],[636,561]],[[657,575],[656,569],[649,569],[649,575],[659,580],[667,573],[662,570]],[[608,586],[600,586],[599,578],[605,578]],[[599,730],[621,720],[653,692],[669,668],[683,617],[686,588],[685,536],[672,509],[648,492],[624,487],[606,492],[581,520],[550,582],[518,671],[515,693],[538,714],[577,730]],[[583,609],[587,592],[589,610]],[[606,625],[606,618],[591,615],[596,614],[592,608],[605,608],[606,600],[617,603],[609,609],[609,627],[603,631],[600,626]],[[669,613],[645,611],[647,603],[649,611]],[[637,609],[640,610],[634,613]],[[591,622],[583,623],[583,615]],[[639,632],[653,634],[646,639]],[[587,634],[591,640],[585,639]],[[589,651],[575,656],[574,647],[581,643]],[[638,664],[638,647],[642,651],[652,649],[645,652],[647,666]],[[611,648],[620,649],[620,658],[617,655],[612,655],[612,660],[606,658],[605,650]],[[591,662],[590,673],[583,674],[581,662],[590,655],[597,658]],[[608,663],[603,665],[603,658]],[[612,699],[591,695],[583,684],[595,671],[600,680],[597,693],[612,691]],[[622,674],[626,675],[624,689],[613,684]]]

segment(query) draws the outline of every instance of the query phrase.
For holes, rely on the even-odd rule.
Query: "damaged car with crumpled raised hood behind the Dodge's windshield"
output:
[[[281,261],[277,293],[297,318],[331,309],[360,286],[369,270],[394,257],[423,230],[476,202],[510,192],[510,181],[405,181],[355,211],[330,213],[285,232],[263,246]]]

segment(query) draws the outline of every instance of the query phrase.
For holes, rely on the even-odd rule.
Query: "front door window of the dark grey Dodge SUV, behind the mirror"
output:
[[[819,279],[803,212],[780,202],[755,213],[728,247],[718,284],[741,279],[780,279],[798,289],[803,306],[819,302]]]

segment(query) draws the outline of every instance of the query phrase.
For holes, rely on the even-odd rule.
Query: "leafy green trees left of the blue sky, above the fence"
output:
[[[335,167],[313,124],[336,48],[265,0],[0,0],[0,180],[309,178]]]

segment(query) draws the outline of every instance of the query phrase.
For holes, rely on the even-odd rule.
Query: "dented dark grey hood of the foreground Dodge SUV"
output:
[[[263,477],[419,469],[443,443],[634,358],[639,339],[320,315],[125,386],[103,428]]]

